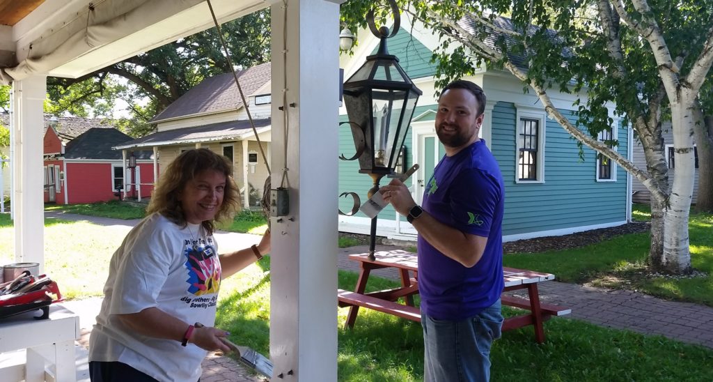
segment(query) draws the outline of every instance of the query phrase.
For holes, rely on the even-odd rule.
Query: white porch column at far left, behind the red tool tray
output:
[[[42,123],[46,77],[13,81],[12,134],[15,260],[39,263],[44,272],[44,198]]]

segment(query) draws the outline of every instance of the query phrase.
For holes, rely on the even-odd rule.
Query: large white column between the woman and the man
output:
[[[340,3],[287,0],[271,9],[272,189],[289,190],[288,216],[271,219],[272,381],[337,381]]]

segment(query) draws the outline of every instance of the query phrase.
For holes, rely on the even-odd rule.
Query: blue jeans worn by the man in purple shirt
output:
[[[503,326],[500,299],[473,318],[436,320],[421,313],[424,328],[424,381],[490,380],[490,349]]]

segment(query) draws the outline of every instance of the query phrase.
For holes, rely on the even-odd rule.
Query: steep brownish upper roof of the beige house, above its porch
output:
[[[270,82],[270,63],[253,66],[237,72],[242,94],[247,98]],[[161,111],[150,122],[168,121],[195,114],[208,114],[218,111],[230,111],[242,106],[240,93],[237,91],[232,74],[220,74],[203,80],[173,104]]]

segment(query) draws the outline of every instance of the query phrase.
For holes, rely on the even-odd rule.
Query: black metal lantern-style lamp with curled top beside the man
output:
[[[344,83],[344,105],[356,147],[356,154],[350,160],[359,159],[359,172],[371,176],[374,186],[369,190],[369,198],[379,191],[379,181],[384,175],[394,175],[416,101],[422,94],[401,69],[399,59],[386,49],[386,39],[396,35],[401,23],[394,0],[389,0],[389,6],[394,12],[393,30],[389,33],[386,26],[376,29],[374,9],[369,11],[366,21],[371,33],[381,39],[379,50],[366,57],[361,68]],[[371,219],[369,259],[372,261],[375,240],[376,216]]]

